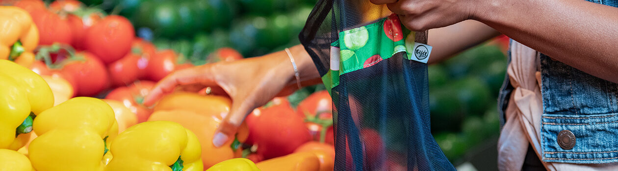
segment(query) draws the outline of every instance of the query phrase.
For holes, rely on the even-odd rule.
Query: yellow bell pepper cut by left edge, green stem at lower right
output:
[[[0,60],[0,68],[0,148],[17,150],[30,139],[35,114],[51,108],[54,97],[43,78],[28,68],[7,60]]]

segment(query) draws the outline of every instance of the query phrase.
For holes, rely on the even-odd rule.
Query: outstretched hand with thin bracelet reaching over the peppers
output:
[[[305,78],[310,78],[308,75],[315,77],[317,71],[303,47],[291,47],[290,51],[299,71],[305,72]],[[152,106],[163,95],[176,89],[197,91],[204,87],[224,90],[232,100],[230,113],[225,116],[213,137],[213,144],[221,146],[230,137],[234,137],[245,116],[253,109],[265,105],[277,95],[292,93],[297,89],[297,84],[292,63],[286,52],[281,51],[263,57],[210,63],[176,71],[155,85],[145,97],[144,104]]]

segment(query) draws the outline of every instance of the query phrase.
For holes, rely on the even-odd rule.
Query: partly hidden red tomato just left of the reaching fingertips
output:
[[[118,87],[109,92],[105,98],[121,101],[124,106],[127,106],[127,108],[137,115],[138,122],[145,122],[148,120],[152,110],[143,106],[142,101],[154,86],[155,82],[139,81],[128,87]]]

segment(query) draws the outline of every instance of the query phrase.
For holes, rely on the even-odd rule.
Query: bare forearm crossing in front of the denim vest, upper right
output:
[[[618,82],[618,8],[582,0],[496,0],[475,19],[593,76]]]

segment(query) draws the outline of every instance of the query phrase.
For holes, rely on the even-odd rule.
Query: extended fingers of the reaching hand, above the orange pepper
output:
[[[211,79],[210,70],[201,70],[203,66],[196,66],[187,68],[184,70],[174,71],[165,78],[161,79],[155,87],[150,90],[150,93],[144,98],[144,105],[154,105],[159,98],[163,97],[166,93],[174,91],[178,85],[196,84],[203,82],[214,82]]]

